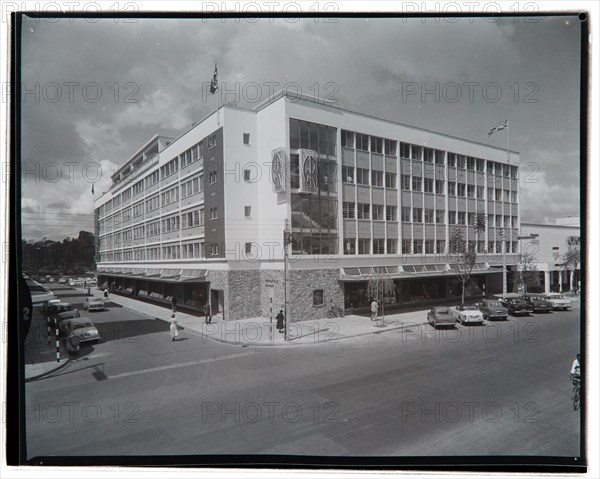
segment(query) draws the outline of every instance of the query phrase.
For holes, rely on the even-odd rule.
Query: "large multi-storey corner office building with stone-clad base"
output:
[[[460,296],[445,254],[456,230],[479,252],[467,293],[501,292],[519,228],[519,155],[507,153],[297,94],[224,106],[177,139],[155,136],[96,199],[100,283],[268,316],[283,306],[287,222],[292,321],[366,307],[375,276],[394,282],[394,305]]]

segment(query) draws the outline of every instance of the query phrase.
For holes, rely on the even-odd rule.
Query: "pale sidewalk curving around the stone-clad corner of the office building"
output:
[[[92,296],[104,298],[99,290],[92,290]],[[111,294],[109,300],[126,309],[138,312],[160,321],[169,322],[171,310],[165,307],[138,301],[125,296]],[[347,315],[343,318],[299,321],[288,324],[288,340],[276,328],[276,320],[249,318],[238,321],[222,321],[213,316],[211,324],[206,324],[204,316],[193,316],[177,312],[177,323],[184,331],[199,334],[204,338],[222,343],[244,346],[289,346],[294,344],[315,344],[337,342],[368,334],[381,334],[387,331],[417,327],[427,322],[427,311],[386,314],[385,321],[371,321],[370,318]]]

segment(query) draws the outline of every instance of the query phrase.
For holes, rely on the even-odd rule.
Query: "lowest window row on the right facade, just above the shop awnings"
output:
[[[517,252],[516,241],[505,241],[506,253]],[[467,241],[478,253],[502,253],[502,241]],[[402,254],[446,254],[445,240],[403,239]],[[345,238],[344,254],[398,254],[398,240],[388,238]]]

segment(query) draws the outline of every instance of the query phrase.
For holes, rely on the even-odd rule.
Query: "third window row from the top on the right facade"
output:
[[[370,203],[354,203],[344,201],[342,205],[342,214],[346,219],[359,219],[375,221],[398,221],[398,207],[370,204]],[[446,220],[451,225],[472,225],[475,223],[475,213],[467,213],[466,211],[448,211],[446,218],[446,210],[433,208],[411,208],[403,206],[401,208],[401,221],[413,223],[438,223],[445,224]],[[519,225],[517,216],[509,215],[487,215],[487,224],[497,227],[513,227]]]

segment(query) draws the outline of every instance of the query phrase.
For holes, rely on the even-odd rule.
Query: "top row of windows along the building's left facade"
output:
[[[217,145],[217,136],[215,134],[208,137],[208,149],[213,149]],[[132,197],[142,193],[144,189],[150,188],[159,182],[159,179],[164,179],[178,170],[191,165],[192,163],[204,158],[204,142],[201,141],[196,145],[188,148],[186,151],[173,158],[167,164],[160,167],[156,171],[148,174],[141,180],[134,183],[131,187],[125,189],[111,200],[99,207],[99,215],[102,216],[106,211],[118,207],[122,202],[131,199]],[[215,172],[216,175],[216,172]],[[216,182],[216,178],[215,178]]]

